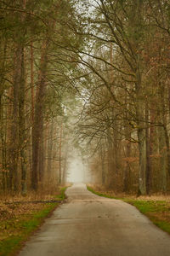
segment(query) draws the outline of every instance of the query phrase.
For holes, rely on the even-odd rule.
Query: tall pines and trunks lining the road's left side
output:
[[[79,47],[71,23],[77,23],[71,1],[0,1],[3,193],[26,195],[65,182],[64,102],[75,94],[69,50]]]

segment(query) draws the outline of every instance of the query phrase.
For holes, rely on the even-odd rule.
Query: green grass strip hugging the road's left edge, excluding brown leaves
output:
[[[65,199],[65,188],[60,189],[59,195],[55,198],[59,200]],[[48,217],[48,214],[52,212],[59,203],[46,203],[43,209],[37,212],[31,212],[31,214],[22,214],[19,218],[11,218],[8,221],[4,221],[5,226],[8,229],[8,237],[0,240],[0,256],[14,255],[20,250],[24,241],[28,239],[33,231],[42,224],[44,218]]]

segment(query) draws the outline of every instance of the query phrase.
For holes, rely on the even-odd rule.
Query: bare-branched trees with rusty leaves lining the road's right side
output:
[[[94,154],[94,181],[138,195],[167,193],[170,3],[88,4],[88,27],[75,29],[89,43],[81,55],[89,75],[77,133]]]

